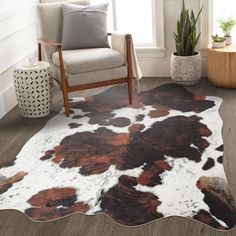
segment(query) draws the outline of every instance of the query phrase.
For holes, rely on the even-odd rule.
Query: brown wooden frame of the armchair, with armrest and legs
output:
[[[108,34],[111,35],[111,34]],[[133,73],[132,73],[132,61],[131,61],[131,44],[132,44],[132,37],[130,34],[125,35],[126,41],[126,61],[127,61],[127,77],[126,78],[118,78],[112,80],[105,80],[105,81],[98,81],[93,83],[86,83],[81,85],[74,85],[69,86],[66,78],[66,72],[64,68],[63,62],[63,45],[58,42],[50,41],[48,39],[39,38],[38,39],[38,60],[42,61],[42,45],[47,47],[57,47],[58,55],[59,55],[59,64],[60,64],[60,77],[61,81],[56,80],[63,93],[63,100],[64,100],[64,108],[65,108],[65,115],[68,117],[70,114],[69,110],[69,98],[68,94],[70,92],[77,92],[85,89],[91,88],[98,88],[104,87],[108,85],[115,85],[115,84],[122,84],[127,83],[128,85],[128,97],[129,97],[129,104],[132,104],[132,86],[133,86]],[[54,78],[55,79],[55,78]]]

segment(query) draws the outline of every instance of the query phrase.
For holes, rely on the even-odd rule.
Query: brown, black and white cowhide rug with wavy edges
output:
[[[221,99],[167,84],[134,95],[113,87],[71,100],[0,169],[0,209],[35,221],[103,212],[137,226],[182,216],[231,229]]]

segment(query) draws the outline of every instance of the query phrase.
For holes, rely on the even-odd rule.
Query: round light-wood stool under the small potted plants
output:
[[[236,88],[236,45],[208,47],[207,76],[216,86]]]

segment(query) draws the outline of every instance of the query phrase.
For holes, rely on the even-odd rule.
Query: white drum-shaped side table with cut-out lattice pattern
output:
[[[52,73],[48,62],[19,65],[13,70],[14,85],[20,113],[27,118],[39,118],[50,113],[52,103]]]

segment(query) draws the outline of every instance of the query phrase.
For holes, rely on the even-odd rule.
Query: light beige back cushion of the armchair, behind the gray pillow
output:
[[[62,3],[69,2],[79,5],[88,5],[89,0],[71,0],[60,2],[48,2],[38,4],[38,35],[42,38],[61,42],[62,40],[62,24],[63,13]],[[50,63],[52,54],[56,48],[47,47],[43,48],[44,59]]]

